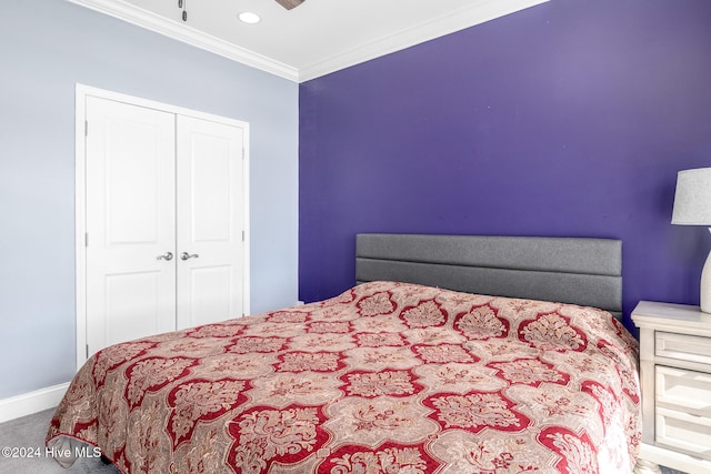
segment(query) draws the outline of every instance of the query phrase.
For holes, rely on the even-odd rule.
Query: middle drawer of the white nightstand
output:
[[[711,374],[655,365],[657,406],[711,418]]]

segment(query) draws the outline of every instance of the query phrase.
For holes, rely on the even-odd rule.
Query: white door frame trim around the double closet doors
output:
[[[76,84],[74,95],[74,264],[76,264],[76,306],[77,306],[77,370],[87,362],[87,143],[86,143],[86,123],[87,109],[86,102],[88,97],[112,100],[114,102],[123,102],[131,105],[143,107],[147,109],[160,110],[163,112],[174,113],[178,115],[193,117],[196,119],[208,120],[211,122],[223,123],[228,125],[240,127],[244,130],[243,138],[243,159],[242,159],[242,212],[244,229],[244,240],[242,242],[243,265],[242,265],[242,313],[250,313],[250,214],[249,214],[249,123],[227,117],[214,115],[211,113],[199,112],[192,109],[186,109],[163,102],[157,102],[149,99],[142,99],[133,95],[127,95],[120,92],[113,92],[104,89],[98,89],[81,83]]]

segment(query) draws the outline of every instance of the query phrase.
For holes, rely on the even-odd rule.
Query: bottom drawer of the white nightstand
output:
[[[711,418],[657,409],[658,445],[711,460]]]

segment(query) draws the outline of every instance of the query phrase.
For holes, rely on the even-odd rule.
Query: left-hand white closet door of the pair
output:
[[[92,97],[86,105],[91,355],[176,327],[176,125],[152,109]]]

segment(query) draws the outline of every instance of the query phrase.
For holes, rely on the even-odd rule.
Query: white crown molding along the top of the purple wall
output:
[[[331,72],[350,68],[351,65],[370,61],[371,59],[395,51],[401,51],[415,44],[548,1],[549,0],[474,1],[463,9],[433,18],[411,28],[395,31],[387,37],[378,38],[368,43],[340,52],[331,58],[303,67],[299,69],[299,82],[330,74]]]

